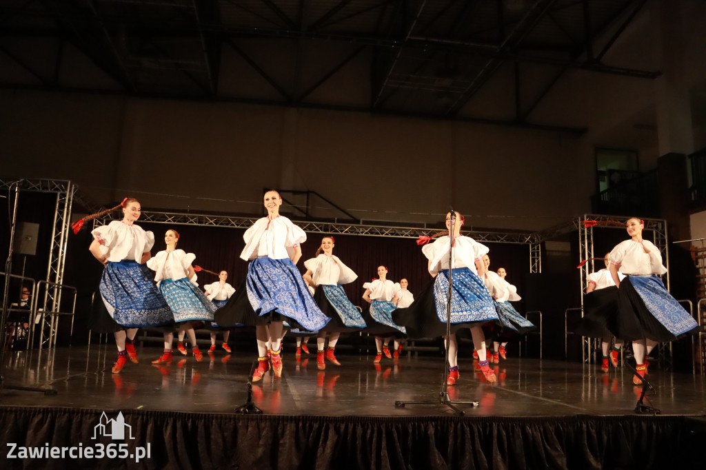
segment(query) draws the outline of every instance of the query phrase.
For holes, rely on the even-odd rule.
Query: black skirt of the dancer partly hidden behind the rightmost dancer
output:
[[[573,332],[590,338],[608,339],[616,336],[618,315],[617,287],[589,292],[583,297],[583,318],[576,323]]]

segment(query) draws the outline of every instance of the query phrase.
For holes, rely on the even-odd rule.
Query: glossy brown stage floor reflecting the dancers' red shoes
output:
[[[1,406],[65,406],[83,409],[144,409],[232,413],[246,401],[252,351],[226,354],[217,349],[197,362],[181,356],[167,366],[150,363],[155,347],[138,348],[140,363],[128,362],[119,374],[110,368],[114,347],[32,350],[6,354],[5,385],[52,387],[53,396],[6,388]],[[316,354],[283,352],[281,378],[268,373],[253,385],[253,401],[265,414],[323,416],[438,416],[453,414],[440,404],[395,408],[396,400],[437,400],[443,358],[402,354],[396,360],[338,354],[341,366],[318,370]],[[495,365],[498,382],[488,384],[470,358],[460,361],[460,380],[449,387],[466,416],[572,416],[633,414],[639,389],[621,367],[602,373],[599,366],[534,358],[508,358]],[[649,399],[662,414],[705,415],[703,375],[650,370]]]

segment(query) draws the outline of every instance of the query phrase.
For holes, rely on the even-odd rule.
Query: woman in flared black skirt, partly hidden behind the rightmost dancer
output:
[[[615,346],[609,353],[613,339],[611,330],[615,329],[618,315],[618,288],[609,270],[610,253],[606,253],[603,260],[606,267],[588,275],[586,295],[583,298],[583,318],[576,324],[574,332],[585,337],[601,338],[601,370],[608,372],[609,363],[618,367],[618,354],[623,347],[623,340],[616,337]],[[625,275],[618,272],[618,279],[622,281],[623,278]]]

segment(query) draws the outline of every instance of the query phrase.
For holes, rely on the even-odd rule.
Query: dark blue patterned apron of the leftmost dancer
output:
[[[134,260],[110,262],[100,279],[100,295],[110,317],[126,328],[174,323],[164,297],[152,281],[152,271]]]

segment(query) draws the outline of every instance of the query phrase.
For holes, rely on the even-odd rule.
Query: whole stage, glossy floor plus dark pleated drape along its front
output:
[[[234,414],[246,402],[253,351],[218,350],[197,362],[177,352],[170,366],[140,363],[110,373],[112,345],[11,352],[5,385],[56,394],[0,391],[1,469],[664,469],[700,468],[706,442],[703,375],[652,370],[652,405],[635,415],[626,368],[508,358],[489,385],[460,361],[455,400],[477,401],[458,416],[438,404],[442,356],[398,361],[337,354],[342,366],[283,352],[282,378],[253,387],[262,415]],[[429,400],[407,404],[397,400]],[[98,435],[103,413],[131,435]],[[121,415],[119,415],[119,412]],[[128,426],[129,425],[129,426]],[[106,426],[107,428],[107,426]],[[127,431],[126,431],[127,432]],[[42,450],[125,445],[129,458],[11,457],[11,445]],[[119,444],[118,444],[119,443]],[[107,447],[106,447],[107,448]],[[139,449],[151,454],[136,459]],[[28,451],[29,452],[29,451]],[[68,452],[68,451],[67,451]],[[135,456],[135,458],[133,458]]]

